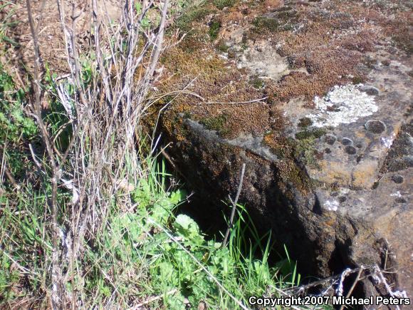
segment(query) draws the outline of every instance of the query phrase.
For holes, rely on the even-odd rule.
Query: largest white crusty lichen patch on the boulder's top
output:
[[[372,115],[378,107],[372,95],[359,90],[359,85],[334,86],[325,97],[315,97],[315,112],[308,115],[315,127],[349,124]]]

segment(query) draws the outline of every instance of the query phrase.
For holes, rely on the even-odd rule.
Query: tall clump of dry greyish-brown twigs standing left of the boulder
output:
[[[93,64],[92,81],[86,86],[82,79],[83,68],[79,58],[81,51],[78,48],[77,34],[77,23],[85,12],[79,11],[77,1],[68,1],[68,7],[66,1],[56,0],[70,71],[68,75],[55,81],[61,85],[58,87],[58,98],[65,103],[70,119],[64,126],[72,128],[68,146],[62,152],[55,144],[58,135],[63,132],[63,127],[58,129],[58,135],[52,137],[42,118],[42,67],[38,45],[40,24],[34,24],[31,1],[26,0],[35,55],[32,114],[46,146],[48,165],[51,165],[51,169],[48,169],[44,163],[36,160],[38,155],[35,155],[31,148],[36,166],[42,170],[46,182],[52,185],[50,209],[53,309],[65,308],[67,304],[76,309],[85,302],[81,292],[73,289],[69,293],[66,289],[68,281],[72,281],[72,287],[75,287],[75,277],[85,277],[84,274],[81,275],[78,266],[82,240],[86,235],[93,238],[95,232],[105,224],[111,203],[108,198],[115,196],[121,172],[129,169],[127,175],[135,177],[135,181],[145,175],[140,155],[137,153],[135,139],[138,137],[135,130],[151,104],[150,100],[147,100],[147,93],[160,54],[164,50],[169,0],[156,3],[143,1],[139,16],[135,14],[134,1],[123,0],[122,16],[117,24],[105,22],[98,14],[97,1],[90,1],[90,21],[94,30],[91,31],[94,34],[90,38],[90,51],[95,54],[96,63]],[[142,31],[140,25],[145,14],[150,7],[156,6],[160,12],[160,24],[157,29]],[[106,15],[108,16],[108,12]],[[111,40],[114,43],[110,43]],[[126,42],[126,45],[123,45],[123,42]],[[141,46],[142,42],[144,44]],[[139,79],[136,79],[135,75],[137,68],[145,68]],[[66,93],[64,85],[68,83],[73,83],[74,95]],[[132,165],[127,165],[127,160],[130,160]],[[73,200],[69,202],[71,214],[66,220],[70,223],[67,231],[62,229],[58,222],[58,187],[73,191]],[[125,203],[132,205],[131,201]],[[63,255],[63,250],[68,256]],[[105,277],[110,275],[106,274]],[[111,279],[108,281],[111,282]],[[118,294],[116,289],[114,294]],[[118,297],[121,302],[126,302],[122,296]]]

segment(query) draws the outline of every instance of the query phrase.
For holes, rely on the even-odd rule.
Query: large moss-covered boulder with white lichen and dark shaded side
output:
[[[216,201],[245,162],[240,201],[303,272],[378,264],[410,296],[412,2],[229,2],[189,9],[162,60],[174,161]]]

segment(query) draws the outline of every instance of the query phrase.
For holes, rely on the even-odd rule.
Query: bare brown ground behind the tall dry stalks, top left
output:
[[[90,37],[90,1],[64,0],[61,2],[65,11],[72,9],[75,4],[77,14],[76,41],[83,50],[88,48]],[[116,20],[120,16],[120,0],[98,0],[99,14],[103,19]],[[66,46],[61,31],[61,23],[58,14],[56,0],[34,0],[31,1],[33,20],[36,22],[38,31],[38,44],[43,65],[53,68],[53,72],[58,75],[67,73]],[[5,6],[0,13],[0,19],[10,14],[10,23],[14,26],[6,29],[5,35],[11,38],[16,45],[6,46],[7,61],[10,66],[14,66],[14,71],[19,72],[21,78],[27,72],[33,71],[33,38],[28,25],[28,16],[25,0],[16,0]],[[25,72],[24,72],[25,71]]]

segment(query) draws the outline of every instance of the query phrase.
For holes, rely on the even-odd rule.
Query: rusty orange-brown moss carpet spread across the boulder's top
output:
[[[296,165],[297,145],[283,136],[285,120],[276,107],[299,96],[306,98],[311,106],[315,95],[325,94],[332,86],[363,81],[372,66],[372,60],[365,53],[375,51],[377,44],[388,36],[393,36],[396,43],[408,51],[408,43],[412,42],[409,40],[412,16],[409,12],[366,7],[359,1],[310,2],[291,7],[280,6],[279,2],[282,1],[239,1],[224,11],[209,11],[208,14],[204,11],[202,18],[187,25],[192,35],[162,57],[165,73],[158,88],[162,93],[185,89],[204,100],[189,94],[178,95],[165,111],[162,125],[178,141],[187,139],[188,134],[182,117],[177,117],[179,113],[212,124],[211,128],[226,138],[239,133],[263,135],[263,143],[281,158],[278,163],[281,180],[295,182],[306,191],[312,186],[311,182]],[[211,9],[211,4],[206,4],[206,8]],[[279,17],[276,22],[266,24],[263,20],[260,24],[258,20],[254,28],[257,16],[273,13]],[[395,18],[389,19],[390,14]],[[252,25],[252,30],[246,33],[246,43],[248,39],[271,40],[278,53],[286,56],[293,71],[281,81],[266,82],[263,89],[254,88],[247,72],[216,55],[208,37],[212,19],[221,23],[217,42],[224,39],[226,29],[231,33],[237,27],[246,29]],[[259,26],[266,27],[265,31],[257,29]],[[300,71],[294,71],[298,69]],[[266,103],[216,103],[249,101],[264,96],[268,96]],[[154,113],[166,102],[154,107]],[[202,156],[212,164],[217,157],[225,155],[218,152],[215,158],[207,154]],[[219,174],[221,164],[214,165],[214,171]]]

